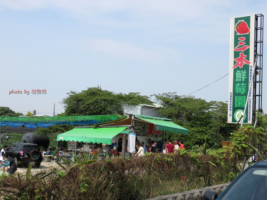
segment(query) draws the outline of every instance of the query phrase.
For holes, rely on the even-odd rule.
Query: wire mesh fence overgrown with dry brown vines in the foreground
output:
[[[58,200],[148,199],[228,182],[233,159],[226,158],[186,153],[155,153],[126,161],[109,158],[87,165],[50,169],[28,178],[1,177],[0,196]]]

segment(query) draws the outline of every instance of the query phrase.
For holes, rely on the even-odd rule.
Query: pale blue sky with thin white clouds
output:
[[[70,91],[100,85],[226,102],[230,19],[266,11],[261,0],[0,0],[0,106],[53,116]]]

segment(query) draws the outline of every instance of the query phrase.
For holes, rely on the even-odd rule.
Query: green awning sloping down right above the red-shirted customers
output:
[[[156,130],[160,130],[160,131],[170,131],[170,132],[174,132],[174,133],[183,133],[188,135],[188,130],[183,128],[182,126],[179,126],[173,122],[170,121],[163,121],[163,120],[156,120],[156,119],[147,119],[147,118],[140,118],[140,117],[136,117],[135,118],[139,119],[139,120],[143,120],[149,123],[152,123],[156,126]]]

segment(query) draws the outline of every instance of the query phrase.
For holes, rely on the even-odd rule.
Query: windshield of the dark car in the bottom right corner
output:
[[[220,197],[220,200],[265,200],[267,197],[267,168],[251,167]]]

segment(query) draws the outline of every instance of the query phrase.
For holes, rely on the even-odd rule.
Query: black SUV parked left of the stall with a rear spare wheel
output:
[[[36,165],[36,167],[40,167],[41,162],[43,161],[40,148],[37,144],[34,143],[12,143],[7,147],[6,155],[14,158],[17,167],[23,164],[29,165],[32,162],[33,165]]]

